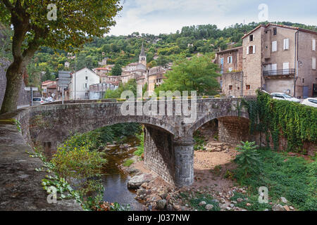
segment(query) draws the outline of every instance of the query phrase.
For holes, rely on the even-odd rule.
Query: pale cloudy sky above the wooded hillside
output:
[[[223,29],[265,18],[317,25],[316,0],[122,0],[121,4],[123,10],[108,35],[169,34],[206,24]]]

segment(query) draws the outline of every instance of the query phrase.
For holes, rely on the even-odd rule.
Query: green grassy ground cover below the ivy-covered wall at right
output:
[[[232,197],[232,200],[248,198],[248,201],[238,203],[238,207],[244,207],[247,210],[271,209],[270,204],[258,203],[259,187],[266,186],[269,202],[277,203],[283,196],[288,200],[287,205],[292,205],[297,210],[317,209],[316,157],[313,162],[308,162],[302,157],[290,157],[286,153],[267,149],[261,149],[259,153],[263,162],[260,174],[244,176],[242,169],[234,171],[237,183],[248,186],[249,190],[249,196],[236,193]],[[251,205],[246,206],[246,203]]]

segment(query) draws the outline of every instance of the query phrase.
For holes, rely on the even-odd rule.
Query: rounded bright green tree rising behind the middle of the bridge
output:
[[[219,83],[217,77],[220,76],[216,71],[218,65],[211,63],[210,56],[194,56],[191,60],[179,60],[166,73],[168,79],[161,86],[156,88],[159,91],[197,91],[197,95],[218,93]]]

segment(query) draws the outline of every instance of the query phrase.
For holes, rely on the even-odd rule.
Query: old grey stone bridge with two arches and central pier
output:
[[[180,113],[178,109],[184,102],[176,99],[124,103],[73,101],[25,108],[15,117],[22,125],[25,139],[42,144],[46,150],[56,149],[72,132],[124,122],[144,124],[144,165],[180,187],[190,186],[194,181],[192,136],[203,124],[217,119],[220,141],[237,142],[249,136],[248,113],[240,107],[241,98],[189,99],[188,105],[194,116],[186,115],[184,110]],[[140,107],[148,108],[151,113],[140,111]],[[132,115],[123,115],[123,108],[132,110]]]

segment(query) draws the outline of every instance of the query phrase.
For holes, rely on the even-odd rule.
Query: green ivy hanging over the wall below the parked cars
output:
[[[271,98],[257,91],[256,101],[242,100],[249,113],[250,133],[260,132],[272,137],[274,149],[278,149],[280,137],[287,139],[287,151],[302,151],[305,141],[317,141],[317,109]]]

